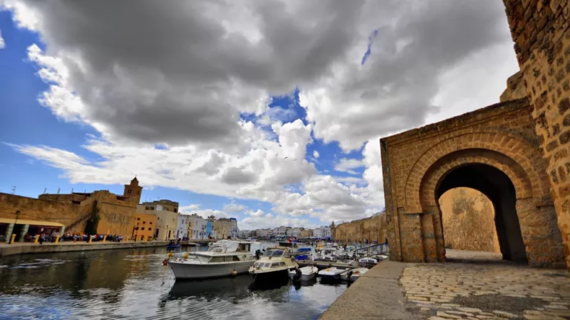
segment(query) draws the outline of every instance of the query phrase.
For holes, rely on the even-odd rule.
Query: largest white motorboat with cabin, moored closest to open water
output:
[[[185,253],[168,261],[176,279],[227,277],[246,273],[256,262],[259,242],[219,240],[207,251]]]

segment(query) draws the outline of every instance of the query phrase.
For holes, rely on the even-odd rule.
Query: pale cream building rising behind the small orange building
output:
[[[153,236],[157,240],[176,238],[178,223],[178,203],[170,200],[145,202],[137,206],[137,213],[152,214],[156,217]]]

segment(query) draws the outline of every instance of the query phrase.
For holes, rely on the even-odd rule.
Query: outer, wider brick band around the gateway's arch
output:
[[[405,208],[408,212],[421,212],[420,186],[427,170],[443,156],[465,149],[487,149],[507,156],[527,174],[534,198],[540,201],[550,198],[546,165],[537,147],[505,132],[469,132],[442,140],[415,161],[404,184]],[[523,194],[519,193],[517,197]]]

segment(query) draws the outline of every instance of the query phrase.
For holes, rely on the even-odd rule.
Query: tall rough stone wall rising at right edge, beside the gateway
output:
[[[570,267],[570,5],[504,0]]]

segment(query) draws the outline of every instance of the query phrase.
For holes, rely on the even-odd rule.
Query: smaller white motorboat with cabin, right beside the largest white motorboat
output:
[[[292,258],[289,257],[289,249],[286,247],[270,247],[265,250],[264,256],[257,260],[249,273],[255,276],[255,279],[264,279],[268,277],[289,277],[289,270],[299,267]]]

